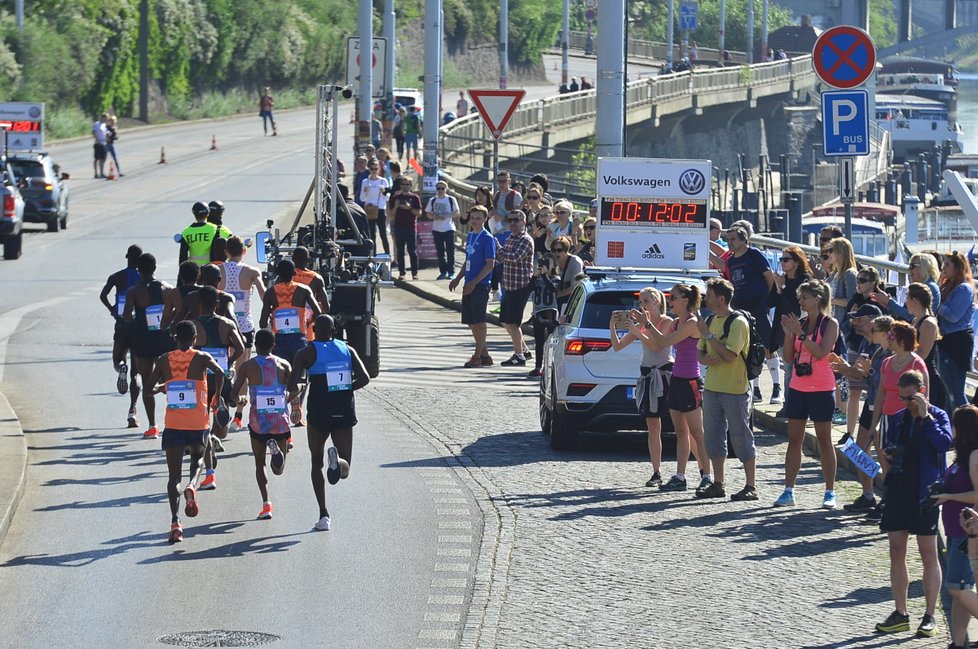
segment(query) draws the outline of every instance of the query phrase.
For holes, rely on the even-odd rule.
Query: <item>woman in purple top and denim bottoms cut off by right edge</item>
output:
[[[943,505],[944,546],[947,548],[947,574],[944,587],[951,594],[951,646],[968,646],[968,623],[978,617],[978,596],[975,595],[975,575],[968,558],[969,533],[961,525],[966,505],[975,504],[978,486],[978,408],[968,405],[951,415],[954,434],[954,462],[944,472],[945,493],[931,496]],[[972,517],[974,510],[970,511]],[[974,535],[978,530],[971,530]],[[970,544],[974,544],[971,541]],[[975,555],[973,555],[975,556]]]

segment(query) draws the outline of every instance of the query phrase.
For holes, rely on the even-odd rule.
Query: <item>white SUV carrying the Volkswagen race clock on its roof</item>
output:
[[[577,447],[581,430],[645,430],[635,406],[641,343],[616,352],[608,323],[614,311],[638,305],[638,294],[652,286],[666,296],[676,284],[705,291],[714,275],[702,272],[587,269],[587,279],[571,295],[564,322],[544,346],[540,379],[540,426],[555,449]],[[672,431],[668,413],[663,431]]]

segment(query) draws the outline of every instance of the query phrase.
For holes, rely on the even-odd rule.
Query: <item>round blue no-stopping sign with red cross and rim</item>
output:
[[[876,45],[858,27],[832,27],[815,41],[812,67],[819,79],[833,88],[861,86],[876,71]]]

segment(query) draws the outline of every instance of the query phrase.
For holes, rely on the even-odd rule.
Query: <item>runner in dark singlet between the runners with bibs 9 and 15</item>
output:
[[[241,341],[241,334],[233,320],[214,314],[217,307],[217,289],[213,286],[202,286],[197,291],[197,302],[200,307],[200,315],[193,321],[197,328],[197,341],[200,343],[200,350],[210,354],[217,364],[221,367],[221,373],[230,378],[228,368],[244,351],[244,343]],[[200,488],[217,488],[217,457],[214,452],[224,450],[219,447],[217,441],[227,437],[228,416],[227,405],[231,401],[231,383],[223,382],[224,392],[217,389],[217,377],[207,373],[208,397],[211,401],[217,402],[217,416],[214,417],[214,424],[211,427],[211,435],[208,437],[207,452],[204,453],[204,467],[207,474],[204,476]],[[216,438],[216,439],[215,439]]]

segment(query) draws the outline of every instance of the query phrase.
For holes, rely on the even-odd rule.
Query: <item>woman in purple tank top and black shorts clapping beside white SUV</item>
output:
[[[676,351],[668,390],[669,416],[676,429],[676,473],[660,491],[686,491],[690,450],[700,468],[697,489],[706,489],[713,476],[703,441],[703,379],[697,360],[700,333],[696,314],[700,308],[700,291],[696,286],[676,284],[669,292],[669,304],[676,316],[670,330],[660,331],[651,318],[645,326],[649,337],[663,349],[673,347]]]

